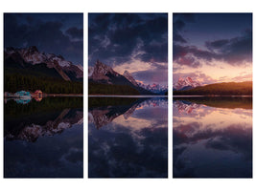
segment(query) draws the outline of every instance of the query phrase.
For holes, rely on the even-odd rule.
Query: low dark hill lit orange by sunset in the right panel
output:
[[[252,96],[252,81],[209,84],[190,90],[174,91],[174,96]]]

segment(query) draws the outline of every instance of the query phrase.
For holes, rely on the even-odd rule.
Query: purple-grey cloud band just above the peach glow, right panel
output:
[[[174,61],[192,68],[199,67],[198,59],[206,63],[216,59],[233,66],[244,65],[244,62],[252,61],[252,32],[248,30],[243,35],[231,39],[207,41],[205,47],[207,50],[174,44]]]

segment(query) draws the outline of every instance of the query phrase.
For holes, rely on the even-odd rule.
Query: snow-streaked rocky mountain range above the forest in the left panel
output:
[[[4,50],[5,72],[52,76],[65,81],[82,81],[83,69],[54,53],[40,53],[35,46],[23,49]]]

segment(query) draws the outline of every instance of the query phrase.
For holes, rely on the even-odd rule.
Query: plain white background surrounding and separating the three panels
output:
[[[0,141],[0,189],[1,190],[256,190],[254,179],[173,179],[173,108],[169,97],[169,179],[87,179],[87,15],[88,12],[168,12],[169,14],[169,87],[172,95],[173,74],[173,12],[253,12],[253,0],[1,0],[0,1],[0,63],[3,64],[3,13],[4,12],[83,12],[83,179],[3,179],[3,139]],[[253,15],[255,18],[255,15]],[[255,19],[253,19],[253,23]],[[253,25],[254,26],[254,25]],[[253,30],[253,36],[255,32]],[[254,38],[253,38],[254,39]],[[255,40],[253,40],[255,41]],[[255,43],[253,42],[253,47]],[[253,53],[254,55],[254,53]],[[254,57],[254,56],[253,56]],[[255,67],[253,67],[255,74]],[[0,67],[0,95],[3,95],[3,65]],[[253,83],[254,90],[255,83]],[[254,101],[255,102],[255,101]],[[253,102],[253,108],[255,103]],[[0,138],[3,138],[3,96],[0,96]],[[253,113],[255,118],[255,112]],[[255,125],[253,125],[255,126]],[[255,136],[253,136],[255,137]],[[255,140],[255,138],[253,138]],[[253,148],[255,148],[253,141]],[[253,149],[255,154],[255,149]],[[255,159],[253,158],[253,164]],[[255,174],[255,168],[253,175]]]

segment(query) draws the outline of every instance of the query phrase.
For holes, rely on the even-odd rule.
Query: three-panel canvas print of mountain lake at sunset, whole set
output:
[[[252,13],[172,14],[4,13],[4,178],[252,178]]]

